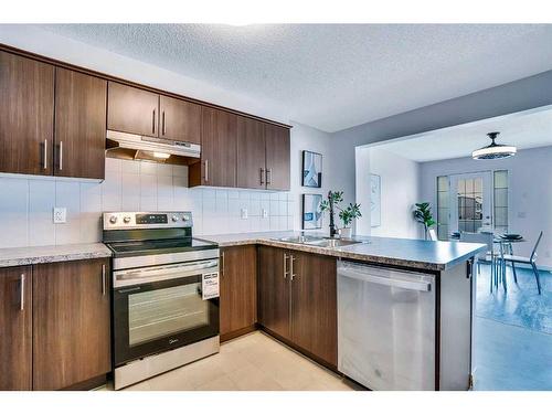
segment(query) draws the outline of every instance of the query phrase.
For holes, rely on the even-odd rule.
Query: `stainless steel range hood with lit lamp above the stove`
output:
[[[107,130],[106,156],[188,166],[199,161],[201,146],[172,139]]]

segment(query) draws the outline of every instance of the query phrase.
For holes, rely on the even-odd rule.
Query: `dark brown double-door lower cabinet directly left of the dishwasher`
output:
[[[258,321],[337,367],[336,258],[258,247]]]

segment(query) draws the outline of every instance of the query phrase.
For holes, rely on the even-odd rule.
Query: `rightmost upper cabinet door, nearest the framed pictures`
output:
[[[265,124],[266,188],[289,190],[289,129]]]

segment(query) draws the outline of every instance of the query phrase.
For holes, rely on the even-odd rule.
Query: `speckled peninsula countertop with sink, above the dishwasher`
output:
[[[321,247],[309,244],[282,242],[277,238],[298,236],[301,232],[266,232],[222,234],[201,238],[217,243],[220,247],[263,244],[309,253],[351,258],[372,263],[407,266],[427,270],[445,270],[467,261],[487,248],[485,244],[459,242],[431,242],[413,238],[353,236],[361,243],[342,247]],[[323,237],[320,233],[304,233]]]

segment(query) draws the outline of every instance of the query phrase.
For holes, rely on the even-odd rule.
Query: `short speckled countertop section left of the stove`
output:
[[[110,257],[103,243],[0,248],[0,267]]]

